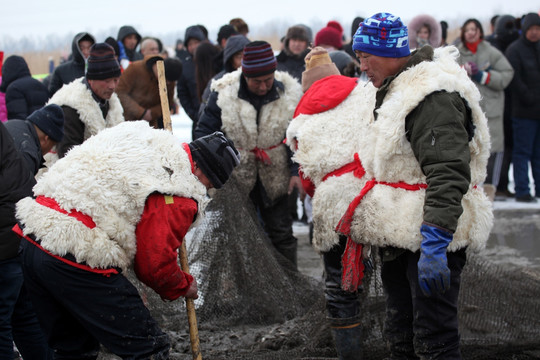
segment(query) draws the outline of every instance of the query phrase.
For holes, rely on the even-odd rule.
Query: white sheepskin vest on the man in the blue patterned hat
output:
[[[465,246],[480,250],[485,247],[493,223],[491,203],[480,186],[486,176],[490,138],[487,119],[480,108],[480,93],[456,62],[458,56],[453,46],[435,49],[433,61],[423,61],[394,79],[378,110],[377,121],[365,131],[368,141],[362,145],[366,146],[362,162],[377,181],[425,184],[426,178],[406,139],[405,117],[435,91],[459,93],[472,110],[476,129],[469,142],[471,184],[462,199],[463,213],[448,250]],[[375,185],[356,210],[352,238],[417,251],[422,242],[424,200],[424,189],[407,191]]]

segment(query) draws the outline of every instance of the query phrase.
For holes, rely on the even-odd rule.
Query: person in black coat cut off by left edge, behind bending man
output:
[[[14,358],[13,342],[25,359],[53,358],[24,287],[15,203],[32,196],[36,184],[17,151],[13,138],[0,122],[0,354]]]

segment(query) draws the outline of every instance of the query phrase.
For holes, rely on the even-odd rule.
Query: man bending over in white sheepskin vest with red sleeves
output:
[[[170,340],[122,274],[163,300],[198,297],[177,250],[240,163],[222,133],[180,143],[147,121],[101,131],[58,160],[17,203],[25,281],[55,354],[168,359]]]

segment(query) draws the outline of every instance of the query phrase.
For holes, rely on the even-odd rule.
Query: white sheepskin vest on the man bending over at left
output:
[[[70,253],[93,268],[126,269],[135,256],[135,229],[151,193],[193,198],[202,214],[206,187],[191,166],[174,135],[146,121],[125,122],[74,147],[34,187],[36,196],[90,216],[95,228],[31,197],[17,203],[17,218],[25,234],[34,234],[53,254]]]

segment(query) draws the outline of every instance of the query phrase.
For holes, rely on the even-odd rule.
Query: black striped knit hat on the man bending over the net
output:
[[[216,131],[189,144],[191,157],[216,189],[220,189],[240,164],[240,154],[231,140]]]

